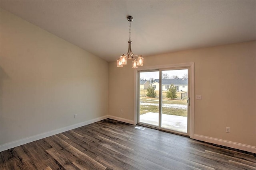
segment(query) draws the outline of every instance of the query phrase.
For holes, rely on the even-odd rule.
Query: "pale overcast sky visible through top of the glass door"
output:
[[[168,74],[169,78],[172,78],[172,76],[178,76],[179,78],[182,78],[184,74],[188,74],[188,70],[166,70],[162,71],[164,74]],[[144,78],[148,80],[149,78],[159,79],[159,71],[152,71],[152,72],[140,72],[140,78]]]

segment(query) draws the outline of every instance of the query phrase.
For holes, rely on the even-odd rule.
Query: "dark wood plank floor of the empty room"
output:
[[[111,119],[0,152],[1,170],[256,169],[255,154]]]

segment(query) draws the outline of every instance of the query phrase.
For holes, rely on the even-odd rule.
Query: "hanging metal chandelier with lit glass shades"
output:
[[[127,20],[130,22],[130,36],[128,41],[128,52],[127,54],[123,54],[117,59],[117,67],[123,67],[123,65],[127,64],[127,59],[133,59],[132,68],[138,68],[138,66],[143,66],[143,57],[142,55],[134,55],[132,53],[132,41],[131,41],[131,21],[133,21],[132,16],[128,16]],[[137,60],[134,57],[138,57]]]

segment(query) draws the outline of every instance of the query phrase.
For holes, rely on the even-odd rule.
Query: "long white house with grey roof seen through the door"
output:
[[[162,82],[162,90],[167,91],[170,88],[170,85],[173,84],[176,86],[176,89],[178,91],[188,91],[188,79],[183,79],[183,78],[169,78],[169,79],[163,79]],[[155,79],[152,84],[156,90],[159,90],[159,79]]]

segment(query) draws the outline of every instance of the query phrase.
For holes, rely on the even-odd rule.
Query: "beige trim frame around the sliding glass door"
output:
[[[188,118],[189,132],[188,135],[190,138],[194,138],[194,65],[195,63],[181,63],[181,64],[167,64],[167,65],[157,65],[157,66],[143,66],[136,68],[134,70],[134,124],[138,123],[138,72],[146,70],[163,70],[163,69],[179,69],[181,67],[190,68],[189,78],[190,78],[190,109]],[[160,78],[159,78],[160,79]]]

